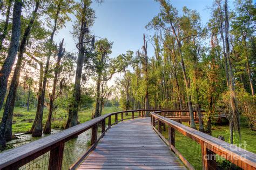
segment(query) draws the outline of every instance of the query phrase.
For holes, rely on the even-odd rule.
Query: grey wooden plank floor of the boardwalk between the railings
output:
[[[152,130],[150,118],[112,126],[77,169],[186,169]]]

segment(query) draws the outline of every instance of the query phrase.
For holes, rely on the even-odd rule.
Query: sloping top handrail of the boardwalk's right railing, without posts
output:
[[[164,111],[162,111],[162,112],[164,112]],[[194,130],[191,127],[177,123],[174,120],[170,120],[165,117],[162,117],[161,115],[158,115],[157,113],[161,113],[161,112],[159,112],[159,111],[151,112],[152,117],[157,118],[162,123],[171,126],[172,128],[179,131],[180,133],[197,141],[199,144],[204,144],[205,147],[207,149],[210,149],[211,151],[212,150],[216,151],[216,148],[217,148],[217,150],[219,150],[219,152],[221,153],[220,155],[222,155],[222,154],[231,155],[232,157],[227,158],[227,160],[231,161],[233,164],[236,164],[239,166],[238,162],[234,160],[234,158],[237,158],[252,167],[256,167],[256,154],[246,151],[245,149],[242,149],[235,145],[229,144],[228,142],[225,142],[218,138],[214,138],[211,135]],[[231,148],[232,148],[232,150],[231,150]],[[219,153],[216,153],[216,154],[219,154]],[[244,155],[246,155],[245,158],[243,157]],[[233,160],[231,160],[231,159],[233,159]]]

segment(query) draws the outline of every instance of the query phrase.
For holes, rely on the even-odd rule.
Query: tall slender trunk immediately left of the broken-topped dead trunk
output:
[[[51,46],[52,46],[52,43],[53,43],[53,36],[55,35],[55,32],[57,30],[57,21],[58,21],[58,17],[59,17],[59,12],[60,12],[60,4],[58,4],[58,8],[57,8],[57,11],[56,11],[56,16],[55,16],[55,21],[54,21],[54,26],[53,26],[53,30],[52,30],[52,33],[51,33],[51,38],[49,40],[49,45],[50,45],[49,48],[50,49],[49,49],[48,57],[47,57],[46,64],[45,64],[42,92],[41,92],[41,97],[40,97],[40,103],[38,103],[39,104],[38,117],[37,117],[37,120],[36,119],[34,120],[35,121],[35,127],[32,130],[32,137],[41,137],[42,136],[45,87],[46,87],[46,83],[47,83],[47,77],[48,77],[48,71],[49,71],[49,65],[50,65],[50,58],[51,58],[51,55],[52,55]]]

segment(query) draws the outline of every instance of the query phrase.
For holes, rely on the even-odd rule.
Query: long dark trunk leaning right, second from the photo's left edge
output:
[[[21,40],[21,45],[19,46],[18,60],[14,70],[14,76],[12,77],[12,80],[11,80],[9,94],[7,96],[5,107],[4,107],[4,114],[8,114],[8,118],[6,120],[6,127],[5,127],[6,141],[11,140],[12,138],[12,116],[14,114],[15,97],[16,97],[16,92],[19,84],[19,76],[21,74],[22,61],[24,59],[23,54],[25,52],[26,42],[28,41],[30,30],[32,28],[33,22],[35,21],[38,7],[39,7],[39,2],[36,3],[35,10],[33,11],[32,17],[30,19],[30,23],[24,31],[24,35]]]

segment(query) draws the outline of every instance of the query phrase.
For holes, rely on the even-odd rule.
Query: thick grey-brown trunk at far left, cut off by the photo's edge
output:
[[[3,106],[4,97],[5,97],[7,84],[8,84],[8,78],[11,73],[11,69],[12,69],[12,66],[14,65],[15,58],[18,52],[19,37],[21,36],[21,11],[22,11],[22,2],[19,0],[15,0],[14,12],[12,15],[11,43],[10,43],[8,55],[0,71],[0,110],[2,109],[2,106]]]

